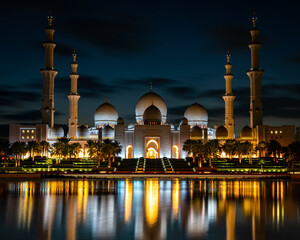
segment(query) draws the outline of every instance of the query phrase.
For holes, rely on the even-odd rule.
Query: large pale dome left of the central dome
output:
[[[105,125],[116,125],[118,120],[118,112],[113,105],[108,102],[101,104],[95,114],[95,125],[103,127]]]

